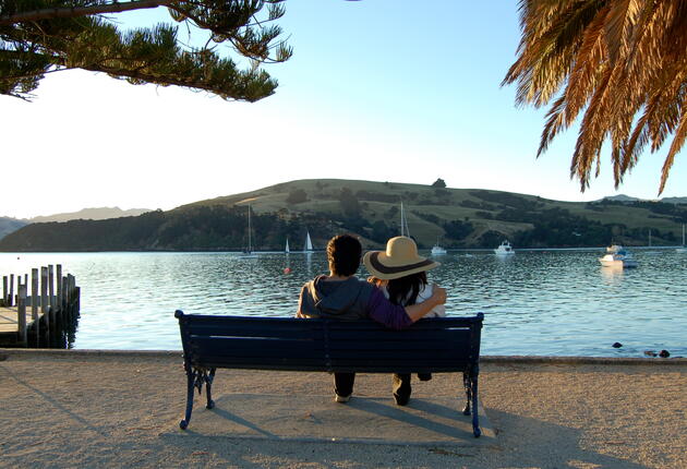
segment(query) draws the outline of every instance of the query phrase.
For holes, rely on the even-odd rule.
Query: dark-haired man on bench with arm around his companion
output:
[[[401,329],[413,324],[436,305],[446,302],[446,290],[433,289],[422,303],[391,304],[374,285],[355,277],[362,245],[350,234],[339,234],[327,243],[329,275],[320,275],[303,285],[297,317],[326,317],[340,321],[371,318],[386,327]],[[337,402],[347,402],[353,393],[355,373],[334,373]]]

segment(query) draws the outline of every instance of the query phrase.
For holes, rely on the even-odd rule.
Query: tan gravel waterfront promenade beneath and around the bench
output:
[[[685,359],[484,358],[481,371],[491,438],[431,426],[461,393],[455,374],[413,381],[402,409],[386,375],[360,375],[346,407],[330,401],[326,373],[219,370],[217,408],[196,399],[182,432],[180,352],[0,349],[0,467],[687,467]],[[436,441],[423,444],[413,425]]]

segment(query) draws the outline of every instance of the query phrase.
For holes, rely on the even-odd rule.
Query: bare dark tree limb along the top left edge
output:
[[[15,23],[27,23],[39,20],[52,20],[56,17],[88,16],[103,13],[119,13],[131,10],[168,7],[178,0],[132,0],[126,3],[110,3],[93,7],[74,8],[46,8],[41,10],[25,11],[0,16],[0,26],[9,26]]]

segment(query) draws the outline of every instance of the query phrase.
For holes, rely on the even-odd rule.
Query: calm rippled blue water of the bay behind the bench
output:
[[[430,277],[447,288],[449,315],[485,314],[483,354],[687,356],[687,255],[637,250],[639,267],[625,272],[602,268],[600,255],[449,251]],[[326,270],[324,253],[0,254],[1,275],[48,264],[81,287],[79,349],[180,349],[177,309],[291,316],[301,285]]]

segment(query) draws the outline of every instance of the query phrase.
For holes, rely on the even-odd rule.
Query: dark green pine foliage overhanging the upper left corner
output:
[[[131,84],[176,85],[228,100],[256,101],[277,86],[260,65],[291,57],[275,24],[285,13],[281,2],[2,0],[0,93],[28,99],[47,73],[83,69]],[[159,7],[203,46],[182,44],[172,24],[120,31],[117,13]],[[250,65],[241,70],[231,58],[219,55],[217,45],[228,45]]]

